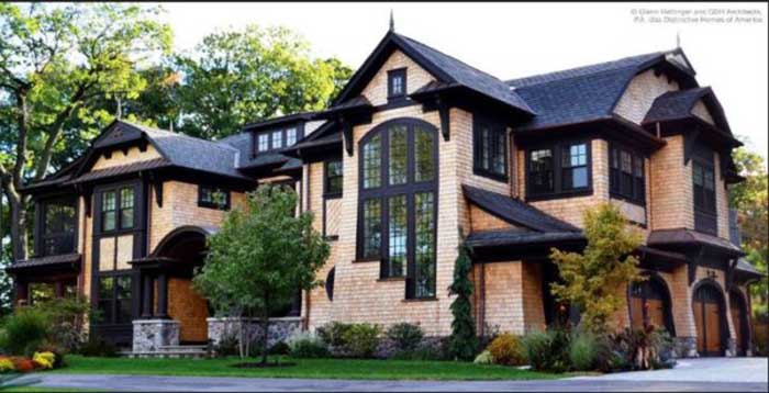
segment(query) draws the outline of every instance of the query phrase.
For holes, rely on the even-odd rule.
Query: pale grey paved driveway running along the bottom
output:
[[[347,381],[208,377],[35,374],[38,388],[115,391],[733,391],[767,392],[766,358],[684,359],[672,370],[624,372],[556,381]]]

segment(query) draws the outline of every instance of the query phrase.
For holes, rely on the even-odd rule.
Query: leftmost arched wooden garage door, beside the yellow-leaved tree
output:
[[[631,322],[634,327],[654,325],[664,327],[675,335],[670,313],[670,295],[665,282],[650,276],[647,280],[631,287]]]

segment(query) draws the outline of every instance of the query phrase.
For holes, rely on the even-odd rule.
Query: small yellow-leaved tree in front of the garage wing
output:
[[[603,333],[611,315],[624,304],[626,285],[640,279],[638,260],[629,254],[642,238],[611,203],[586,211],[583,224],[588,245],[582,252],[550,251],[564,280],[550,289],[559,300],[581,310],[580,324]]]

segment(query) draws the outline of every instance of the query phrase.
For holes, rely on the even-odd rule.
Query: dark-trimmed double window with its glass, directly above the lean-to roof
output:
[[[526,151],[526,196],[561,198],[591,191],[590,142],[560,142]]]

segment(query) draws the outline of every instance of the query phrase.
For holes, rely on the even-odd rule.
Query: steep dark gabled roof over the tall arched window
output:
[[[403,52],[441,82],[454,83],[504,103],[516,111],[533,113],[526,102],[511,91],[502,80],[393,31],[384,35],[363,66],[353,75],[347,86],[334,100],[334,105],[359,94],[394,49]]]

